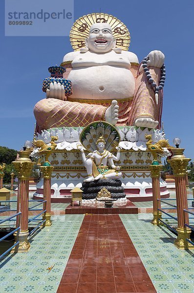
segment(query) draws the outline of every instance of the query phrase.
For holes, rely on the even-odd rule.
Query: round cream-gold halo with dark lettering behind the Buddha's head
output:
[[[90,13],[74,22],[69,34],[74,51],[85,47],[85,39],[89,36],[90,27],[96,22],[108,23],[112,28],[112,35],[116,40],[116,47],[128,51],[130,33],[127,26],[116,17],[107,13]]]

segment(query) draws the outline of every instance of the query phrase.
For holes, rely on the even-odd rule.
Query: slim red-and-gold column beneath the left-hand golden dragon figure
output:
[[[44,208],[46,212],[43,215],[43,220],[46,220],[43,227],[49,227],[52,225],[51,221],[51,175],[53,166],[41,166],[41,172],[43,173],[43,200],[46,200]]]

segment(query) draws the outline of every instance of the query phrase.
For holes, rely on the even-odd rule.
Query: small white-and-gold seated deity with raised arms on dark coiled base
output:
[[[122,173],[119,171],[120,167],[114,165],[114,161],[118,162],[120,159],[120,148],[118,147],[117,155],[114,156],[111,152],[105,149],[105,139],[100,136],[96,142],[97,149],[87,156],[84,153],[84,148],[78,145],[78,149],[81,151],[82,160],[85,164],[88,178],[85,182],[90,182],[98,179],[119,179]],[[107,166],[107,164],[111,167]]]

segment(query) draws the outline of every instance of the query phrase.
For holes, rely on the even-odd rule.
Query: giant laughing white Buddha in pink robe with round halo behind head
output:
[[[86,21],[89,16],[74,23],[70,37],[72,46],[77,42],[77,47],[64,56],[61,64],[66,69],[64,78],[72,82],[73,93],[66,97],[63,85],[50,84],[46,99],[34,108],[38,131],[86,126],[94,121],[160,128],[163,91],[156,101],[142,64],[128,51],[129,42],[125,46],[126,39],[130,41],[127,27],[116,18],[118,27],[112,25],[110,15],[103,15],[104,19],[92,17],[91,24],[91,18]],[[72,35],[78,33],[80,39],[73,39]],[[164,54],[155,50],[147,57],[151,77],[158,84]]]

